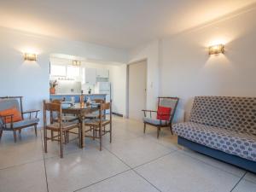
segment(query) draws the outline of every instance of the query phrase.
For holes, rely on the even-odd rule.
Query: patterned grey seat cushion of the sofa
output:
[[[231,131],[193,122],[173,125],[172,130],[178,136],[192,142],[256,161],[256,136],[247,132]]]

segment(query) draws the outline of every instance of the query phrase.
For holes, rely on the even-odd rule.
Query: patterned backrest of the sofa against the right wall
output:
[[[256,135],[256,97],[195,96],[189,121]]]

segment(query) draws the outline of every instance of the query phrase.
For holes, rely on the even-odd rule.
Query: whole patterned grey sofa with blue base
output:
[[[256,97],[196,96],[178,143],[256,172]]]

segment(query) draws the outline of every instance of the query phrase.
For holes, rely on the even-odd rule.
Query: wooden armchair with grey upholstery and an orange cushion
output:
[[[15,120],[15,114],[6,112],[10,108],[15,108],[19,112],[19,120]],[[1,115],[1,113],[7,113]],[[21,132],[21,129],[33,126],[36,136],[38,135],[38,112],[39,110],[23,111],[22,96],[4,96],[0,97],[0,139],[3,131],[14,131],[14,138],[16,143],[16,131]],[[28,116],[25,118],[25,116]]]

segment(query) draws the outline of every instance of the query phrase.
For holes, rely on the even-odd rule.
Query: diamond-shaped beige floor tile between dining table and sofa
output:
[[[144,137],[121,143],[112,143],[107,145],[106,148],[131,167],[142,165],[173,151],[171,148],[166,148]]]

